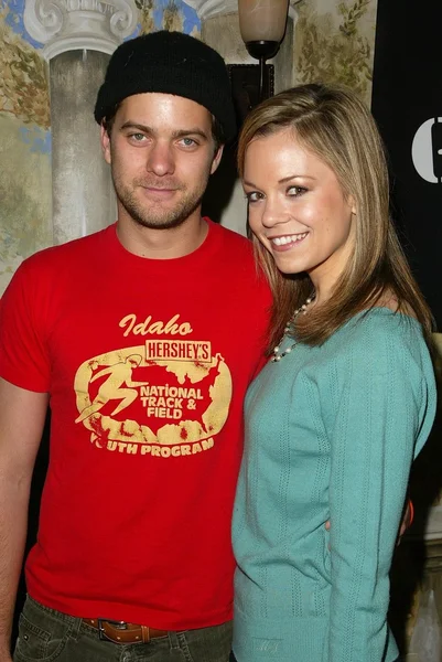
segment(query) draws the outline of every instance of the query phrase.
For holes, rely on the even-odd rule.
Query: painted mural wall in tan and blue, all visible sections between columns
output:
[[[200,35],[183,0],[134,0],[136,34],[177,30]],[[349,85],[370,100],[377,0],[299,4],[295,83]],[[21,260],[51,245],[51,118],[42,44],[23,25],[24,0],[0,0],[0,296]]]

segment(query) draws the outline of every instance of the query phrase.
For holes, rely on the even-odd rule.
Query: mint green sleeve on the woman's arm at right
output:
[[[427,348],[411,331],[364,324],[332,380],[328,662],[385,660],[389,569],[429,399]]]

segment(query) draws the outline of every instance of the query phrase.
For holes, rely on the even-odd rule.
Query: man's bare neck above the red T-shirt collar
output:
[[[207,236],[208,225],[198,213],[177,227],[152,229],[127,220],[117,221],[117,236],[121,245],[140,257],[175,259],[196,250]]]

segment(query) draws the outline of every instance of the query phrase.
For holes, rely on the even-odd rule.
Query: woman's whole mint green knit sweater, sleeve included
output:
[[[387,308],[258,375],[234,514],[238,662],[396,660],[388,573],[435,399],[420,324]]]

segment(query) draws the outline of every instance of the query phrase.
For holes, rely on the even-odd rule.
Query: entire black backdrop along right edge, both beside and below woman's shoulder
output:
[[[371,109],[389,153],[392,214],[442,332],[442,0],[378,0],[377,11]],[[390,575],[389,620],[402,653],[425,572],[425,521],[442,489],[441,431],[440,406],[411,473],[414,524]]]

